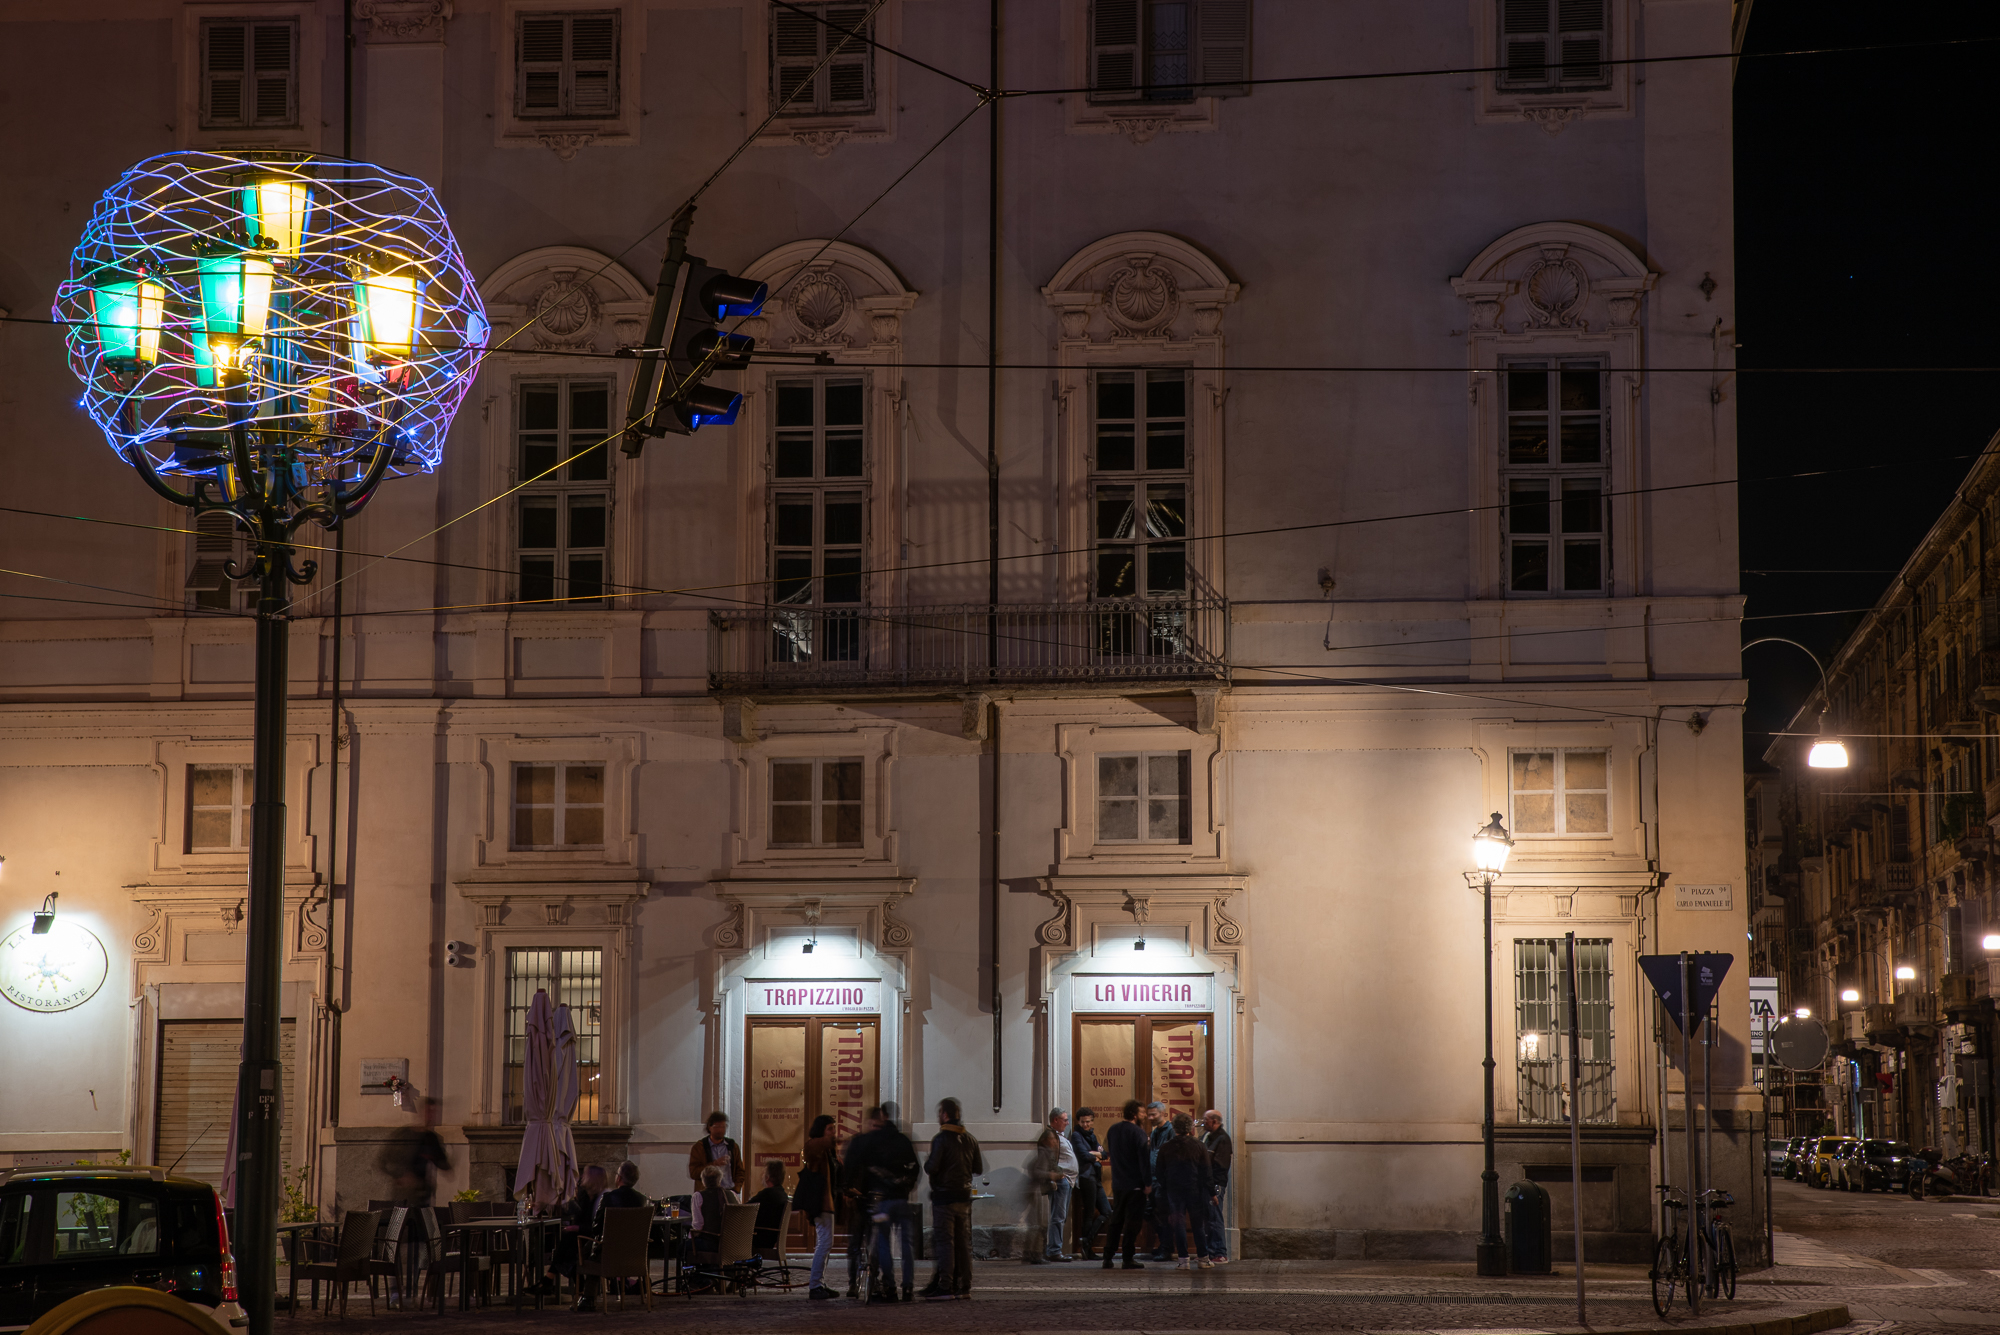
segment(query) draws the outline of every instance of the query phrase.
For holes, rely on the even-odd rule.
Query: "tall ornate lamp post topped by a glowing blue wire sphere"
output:
[[[272,1329],[284,727],[298,530],[340,530],[386,478],[438,466],[486,344],[478,286],[424,182],[336,158],[148,158],[112,186],[56,294],[82,406],[200,528],[224,514],[256,602],[244,1049],[236,1083],[240,1301]],[[332,831],[330,831],[332,833]]]

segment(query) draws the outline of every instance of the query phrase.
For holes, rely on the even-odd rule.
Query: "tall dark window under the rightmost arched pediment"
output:
[[[1500,486],[1510,594],[1602,594],[1610,588],[1604,492],[1610,408],[1596,362],[1506,368]]]

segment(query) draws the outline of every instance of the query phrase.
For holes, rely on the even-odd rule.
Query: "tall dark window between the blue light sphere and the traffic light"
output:
[[[568,312],[570,306],[558,306],[544,324],[562,332]],[[516,598],[524,604],[604,606],[612,520],[610,396],[608,380],[516,386],[516,480],[528,484],[514,500]]]

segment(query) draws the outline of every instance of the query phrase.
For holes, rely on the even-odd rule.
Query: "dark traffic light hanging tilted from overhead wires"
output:
[[[726,332],[722,322],[764,310],[764,284],[690,256],[692,220],[692,206],[676,214],[660,260],[660,282],[638,352],[640,366],[626,400],[620,450],[630,456],[640,452],[648,436],[692,436],[704,426],[728,426],[742,408],[740,394],[704,382],[718,370],[750,366],[756,340]],[[666,366],[660,366],[662,358]]]

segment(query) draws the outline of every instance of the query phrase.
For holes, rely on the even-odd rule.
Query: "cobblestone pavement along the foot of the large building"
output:
[[[2000,1327],[2000,1199],[1910,1201],[1776,1183],[1778,1261],[1750,1273],[1736,1301],[1704,1303],[1702,1319],[1676,1309],[1652,1313],[1646,1267],[1594,1265],[1586,1273],[1590,1329],[1700,1329],[1776,1323],[1846,1305],[1848,1335],[1968,1335]],[[844,1277],[844,1271],[834,1267]],[[830,1273],[830,1279],[834,1275]],[[918,1285],[928,1265],[918,1265]],[[576,1315],[560,1309],[516,1315],[502,1305],[442,1317],[430,1311],[368,1317],[368,1299],[350,1297],[356,1335],[464,1329],[468,1335],[522,1335],[578,1327],[686,1335],[874,1335],[894,1331],[978,1331],[990,1335],[1206,1335],[1208,1331],[1370,1335],[1532,1335],[1578,1331],[1574,1275],[1486,1281],[1470,1263],[1238,1261],[1176,1273],[1106,1273],[1092,1265],[1026,1267],[978,1263],[970,1303],[862,1305],[806,1301],[804,1291],[750,1297],[638,1299],[626,1311]],[[284,1317],[280,1331],[338,1325],[324,1313]],[[1758,1335],[1770,1335],[1770,1327]],[[1996,1331],[2000,1335],[2000,1331]]]

